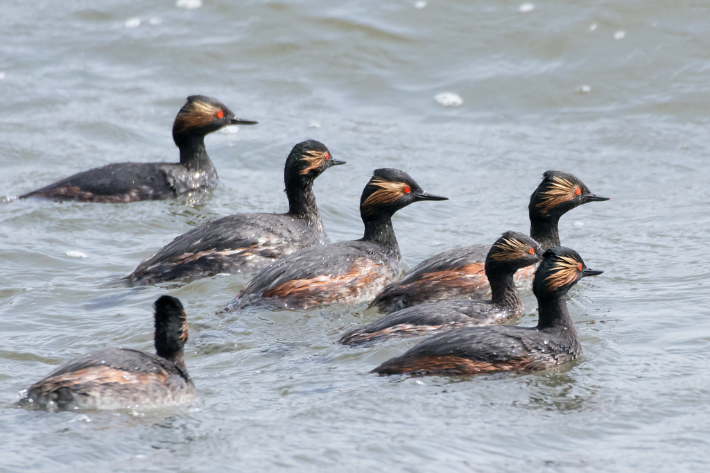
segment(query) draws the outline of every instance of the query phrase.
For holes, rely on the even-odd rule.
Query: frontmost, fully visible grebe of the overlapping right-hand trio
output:
[[[562,246],[545,251],[532,282],[540,318],[537,327],[462,327],[425,339],[401,357],[374,369],[379,374],[477,374],[536,371],[572,361],[581,354],[564,296],[589,269],[577,251]]]

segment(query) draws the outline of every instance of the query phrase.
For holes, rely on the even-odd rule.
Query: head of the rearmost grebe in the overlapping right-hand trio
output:
[[[602,200],[609,200],[609,197],[592,194],[576,176],[549,170],[543,174],[542,183],[530,196],[530,220],[559,218],[574,207]]]

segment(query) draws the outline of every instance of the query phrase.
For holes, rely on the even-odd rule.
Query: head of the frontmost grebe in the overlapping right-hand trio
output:
[[[577,251],[564,246],[545,251],[543,258],[532,281],[532,293],[537,298],[565,295],[581,278],[603,273],[587,268]]]

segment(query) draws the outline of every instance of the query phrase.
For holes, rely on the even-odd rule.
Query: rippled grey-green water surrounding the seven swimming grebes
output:
[[[170,126],[189,94],[261,123],[207,138],[222,179],[209,195],[0,205],[0,469],[706,469],[708,4],[202,3],[2,1],[0,195],[106,163],[177,161]],[[444,92],[462,103],[442,106]],[[375,317],[362,306],[218,316],[245,278],[116,285],[197,224],[283,212],[283,162],[306,138],[348,161],[315,185],[334,241],[361,237],[357,202],[374,168],[451,197],[395,216],[410,266],[527,230],[547,169],[612,197],[560,229],[605,271],[569,295],[584,356],[524,376],[378,377],[367,372],[416,340],[338,346],[342,330]],[[14,407],[79,354],[151,351],[163,293],[188,312],[195,406]],[[534,325],[535,299],[523,297],[520,324]]]

